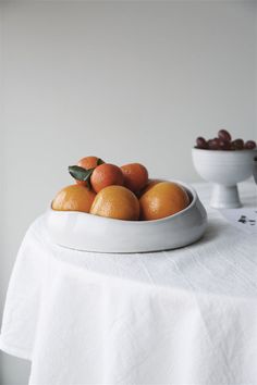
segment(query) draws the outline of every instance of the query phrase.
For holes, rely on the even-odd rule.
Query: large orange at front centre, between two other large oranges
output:
[[[117,220],[136,221],[139,218],[139,202],[127,188],[108,186],[97,194],[90,213]]]

